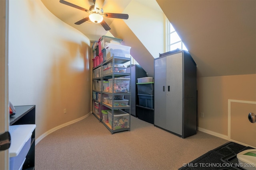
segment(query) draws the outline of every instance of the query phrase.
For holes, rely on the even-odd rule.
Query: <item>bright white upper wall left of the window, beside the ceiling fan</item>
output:
[[[155,5],[158,6],[156,2]],[[129,19],[124,22],[152,57],[158,58],[159,53],[164,53],[164,13],[162,11],[154,10],[139,1],[132,0],[123,13],[129,14]]]

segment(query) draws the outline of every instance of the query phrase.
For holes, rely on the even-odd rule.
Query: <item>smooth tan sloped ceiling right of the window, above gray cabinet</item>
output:
[[[198,66],[198,76],[256,73],[255,0],[156,0]]]

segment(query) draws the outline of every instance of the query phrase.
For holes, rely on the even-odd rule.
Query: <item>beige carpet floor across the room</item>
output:
[[[178,170],[228,141],[198,131],[182,139],[131,116],[131,130],[114,133],[94,117],[63,127],[35,147],[36,170]]]

